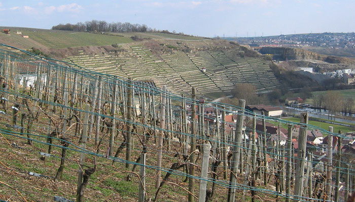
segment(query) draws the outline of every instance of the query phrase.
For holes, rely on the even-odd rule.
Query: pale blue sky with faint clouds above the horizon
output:
[[[0,0],[0,26],[50,29],[87,20],[198,36],[355,31],[354,0]]]

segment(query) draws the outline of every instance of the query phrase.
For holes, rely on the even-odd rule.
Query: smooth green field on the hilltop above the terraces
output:
[[[139,36],[141,38],[151,39],[185,39],[196,40],[202,37],[182,36],[176,34],[165,33],[89,33],[62,31],[50,29],[34,29],[23,27],[0,27],[10,28],[10,34],[1,33],[0,40],[3,43],[9,43],[22,48],[39,47],[41,45],[48,48],[66,48],[91,45],[111,45],[115,43],[134,42],[130,37]],[[22,32],[22,35],[28,35],[29,38],[23,38],[22,35],[16,34],[16,31]]]

